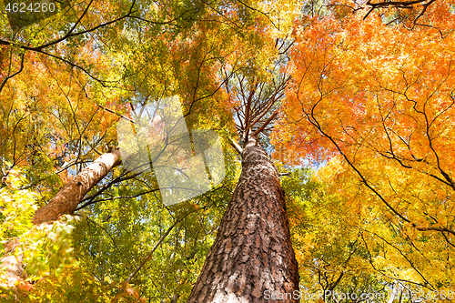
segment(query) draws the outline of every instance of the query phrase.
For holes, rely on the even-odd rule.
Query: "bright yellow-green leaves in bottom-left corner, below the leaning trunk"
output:
[[[112,302],[118,283],[101,284],[79,265],[73,252],[72,232],[76,217],[66,216],[53,224],[34,226],[32,217],[37,208],[36,194],[19,190],[25,178],[10,170],[0,188],[0,209],[3,257],[13,254],[26,275],[7,283],[6,269],[0,275],[2,302]],[[13,247],[14,251],[6,251]],[[136,302],[136,290],[126,288],[119,293],[119,302]]]

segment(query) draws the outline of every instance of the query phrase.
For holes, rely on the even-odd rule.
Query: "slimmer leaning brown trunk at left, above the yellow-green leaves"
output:
[[[84,168],[76,177],[62,187],[56,197],[53,197],[44,207],[35,212],[33,223],[55,221],[58,217],[73,214],[77,205],[86,196],[86,193],[106,177],[107,173],[121,163],[120,151],[113,150],[98,157],[92,164]]]

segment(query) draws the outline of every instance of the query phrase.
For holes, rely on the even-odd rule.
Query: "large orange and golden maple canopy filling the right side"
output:
[[[390,10],[297,25],[286,126],[274,136],[278,150],[292,151],[289,163],[328,161],[318,176],[355,214],[349,229],[366,250],[362,263],[425,294],[453,287],[455,235],[454,15],[448,2],[433,5],[420,17],[430,28],[411,31],[390,23]]]

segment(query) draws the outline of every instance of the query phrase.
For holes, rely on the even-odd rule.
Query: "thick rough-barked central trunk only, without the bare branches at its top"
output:
[[[251,140],[242,152],[238,186],[187,303],[274,302],[271,298],[294,290],[298,264],[278,171]],[[284,301],[298,302],[290,296]]]

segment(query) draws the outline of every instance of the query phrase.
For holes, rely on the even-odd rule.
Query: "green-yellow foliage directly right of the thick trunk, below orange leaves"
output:
[[[359,300],[367,299],[361,294],[371,294],[370,300],[386,301],[389,280],[369,266],[359,234],[361,217],[343,197],[330,193],[327,181],[310,168],[292,169],[282,181],[299,265],[300,298],[312,301],[316,294],[325,302],[352,302],[347,294],[355,293]]]

